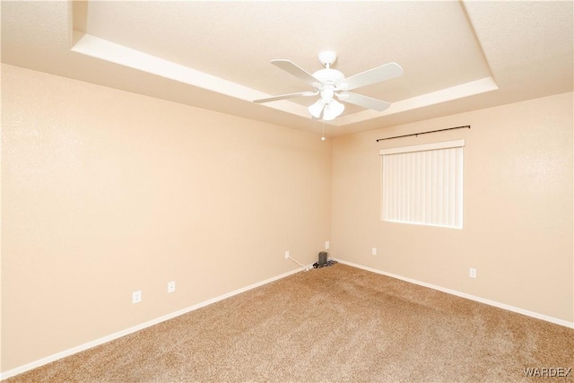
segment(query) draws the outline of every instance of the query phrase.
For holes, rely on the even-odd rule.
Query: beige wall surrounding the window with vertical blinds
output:
[[[572,323],[572,102],[566,93],[335,139],[333,256]],[[464,229],[381,222],[379,150],[458,138]]]

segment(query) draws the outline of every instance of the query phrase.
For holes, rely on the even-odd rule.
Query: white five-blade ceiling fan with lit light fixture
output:
[[[333,120],[340,116],[344,111],[344,104],[335,100],[335,97],[341,101],[358,105],[366,109],[374,109],[379,112],[382,112],[391,105],[386,101],[353,93],[351,90],[403,75],[403,68],[400,65],[396,63],[388,63],[377,66],[368,71],[361,72],[360,74],[353,74],[350,77],[345,77],[340,71],[331,68],[331,65],[333,65],[337,59],[337,54],[335,52],[321,52],[318,57],[320,63],[325,65],[325,68],[318,70],[314,74],[309,74],[309,72],[289,60],[280,59],[271,61],[271,64],[311,85],[313,87],[313,91],[300,91],[298,93],[283,94],[267,99],[254,100],[253,102],[264,103],[276,100],[320,95],[320,98],[309,106],[309,113],[314,118],[320,118],[322,114],[324,121]]]

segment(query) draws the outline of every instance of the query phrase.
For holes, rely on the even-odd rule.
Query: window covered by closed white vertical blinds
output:
[[[465,140],[384,149],[381,220],[463,227]]]

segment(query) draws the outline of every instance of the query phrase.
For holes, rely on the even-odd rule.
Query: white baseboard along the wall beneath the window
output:
[[[342,263],[344,265],[350,265],[352,267],[361,268],[363,270],[367,270],[367,271],[370,271],[372,273],[387,275],[387,276],[390,276],[391,278],[400,279],[401,281],[404,281],[404,282],[414,283],[414,284],[418,284],[418,285],[423,286],[423,287],[428,287],[428,288],[433,289],[433,290],[438,290],[439,292],[447,292],[448,294],[456,295],[457,297],[465,298],[467,300],[475,300],[477,302],[484,303],[484,304],[487,304],[489,306],[493,306],[493,307],[496,307],[499,309],[507,309],[509,311],[516,312],[518,314],[526,315],[527,317],[542,319],[542,320],[545,320],[546,322],[551,322],[551,323],[554,323],[556,325],[574,328],[574,322],[569,322],[569,321],[564,320],[564,319],[549,317],[547,315],[540,314],[540,313],[537,313],[535,311],[529,311],[527,309],[520,309],[520,308],[510,306],[510,305],[507,305],[505,303],[500,303],[500,302],[497,302],[494,300],[486,300],[484,298],[477,297],[477,296],[474,296],[471,294],[467,294],[465,292],[457,292],[456,290],[447,289],[445,287],[440,287],[440,286],[437,286],[435,284],[417,281],[415,279],[407,278],[407,277],[397,275],[397,274],[387,273],[387,272],[384,272],[384,271],[381,271],[381,270],[378,270],[378,269],[375,269],[372,267],[354,264],[352,262],[347,262],[347,261],[344,261],[341,259],[336,259],[336,261],[339,263]]]

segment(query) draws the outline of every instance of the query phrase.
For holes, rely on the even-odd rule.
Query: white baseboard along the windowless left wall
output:
[[[310,266],[310,267],[312,268],[312,266]],[[48,363],[50,363],[50,362],[52,362],[52,361],[57,361],[58,359],[65,358],[66,356],[74,355],[74,353],[83,352],[83,351],[85,351],[85,350],[91,349],[92,347],[95,347],[95,346],[100,345],[100,344],[106,344],[106,343],[108,343],[108,342],[110,342],[110,341],[113,341],[114,339],[117,339],[117,338],[120,338],[120,337],[122,337],[122,336],[135,333],[136,331],[143,330],[143,329],[146,328],[146,327],[150,327],[150,326],[157,325],[157,324],[159,324],[159,323],[161,323],[161,322],[165,322],[166,320],[179,317],[180,315],[186,314],[186,313],[188,313],[188,312],[190,312],[190,311],[193,311],[193,310],[196,310],[196,309],[201,309],[201,308],[203,308],[203,307],[205,307],[205,306],[208,306],[208,305],[210,305],[210,304],[212,304],[212,303],[215,303],[215,302],[217,302],[217,301],[225,300],[225,299],[227,299],[227,298],[232,297],[233,295],[240,294],[241,292],[247,292],[247,291],[249,291],[249,290],[251,290],[251,289],[255,289],[256,287],[263,286],[264,284],[267,284],[267,283],[272,283],[272,282],[277,281],[277,280],[279,280],[279,279],[282,279],[282,278],[284,278],[284,277],[286,277],[286,276],[289,276],[289,275],[291,275],[291,274],[296,274],[296,273],[299,273],[300,271],[307,270],[307,269],[309,269],[309,266],[302,267],[302,268],[297,268],[297,269],[292,270],[292,271],[290,271],[290,272],[283,273],[283,274],[274,276],[274,277],[269,278],[269,279],[265,279],[265,281],[261,281],[261,282],[258,282],[258,283],[253,283],[253,284],[250,284],[250,285],[248,285],[248,286],[246,286],[246,287],[243,287],[243,288],[241,288],[241,289],[239,289],[239,290],[235,290],[235,291],[233,291],[233,292],[228,292],[228,293],[226,293],[226,294],[220,295],[219,297],[215,297],[215,298],[213,298],[213,299],[211,299],[211,300],[205,300],[205,301],[203,301],[203,302],[197,303],[196,305],[190,306],[190,307],[188,307],[188,308],[186,308],[186,309],[180,309],[180,310],[178,310],[178,311],[175,311],[175,312],[172,312],[172,313],[170,313],[170,314],[164,315],[164,316],[162,316],[162,317],[160,317],[160,318],[155,318],[155,319],[149,320],[149,321],[147,321],[147,322],[144,322],[144,323],[142,323],[142,324],[140,324],[140,325],[136,325],[136,326],[133,326],[133,327],[129,327],[129,328],[126,328],[125,330],[118,331],[117,333],[114,333],[114,334],[111,334],[111,335],[107,335],[107,336],[101,337],[100,339],[93,340],[93,341],[88,342],[88,343],[86,343],[86,344],[78,345],[78,346],[76,346],[76,347],[73,347],[73,348],[70,348],[70,349],[68,349],[68,350],[65,350],[65,351],[63,351],[63,352],[61,352],[61,353],[55,353],[55,354],[53,354],[53,355],[47,356],[46,358],[42,358],[42,359],[40,359],[39,361],[32,361],[32,362],[30,362],[30,363],[24,364],[23,366],[17,367],[17,368],[15,368],[15,369],[13,369],[13,370],[7,370],[7,371],[5,371],[5,372],[3,372],[3,373],[0,373],[0,380],[12,378],[13,376],[22,374],[23,372],[26,372],[26,371],[29,371],[29,370],[36,369],[36,368],[38,368],[38,367],[40,367],[40,366],[43,366],[43,365],[45,365],[45,364],[48,364]]]

